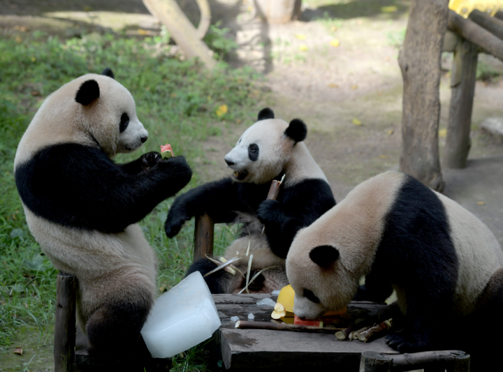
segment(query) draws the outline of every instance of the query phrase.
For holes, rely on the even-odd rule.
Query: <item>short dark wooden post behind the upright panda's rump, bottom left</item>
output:
[[[75,300],[77,278],[59,272],[56,278],[54,372],[70,372],[75,356]]]

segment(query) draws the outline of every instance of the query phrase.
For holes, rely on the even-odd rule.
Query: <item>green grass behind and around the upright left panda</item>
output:
[[[219,64],[208,73],[171,55],[161,41],[99,34],[59,40],[41,32],[0,39],[0,370],[52,369],[57,271],[30,235],[13,177],[17,143],[45,96],[75,77],[112,68],[116,80],[135,97],[138,117],[150,133],[144,147],[118,156],[118,162],[170,142],[191,163],[204,158],[201,142],[219,136],[222,128],[252,122],[256,114],[257,76],[251,70]],[[219,116],[221,105],[228,111]],[[200,182],[196,169],[187,188]],[[169,204],[159,204],[140,223],[159,256],[159,292],[180,281],[191,263],[190,226],[175,239],[163,232]],[[234,233],[227,226],[217,228],[217,251]],[[24,348],[22,357],[13,354],[17,346]],[[187,355],[175,360],[175,370],[205,369],[203,353]]]

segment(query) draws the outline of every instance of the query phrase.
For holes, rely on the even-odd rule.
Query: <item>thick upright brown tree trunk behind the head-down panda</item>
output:
[[[398,63],[404,80],[400,170],[437,191],[444,188],[438,126],[442,42],[449,0],[412,0]]]

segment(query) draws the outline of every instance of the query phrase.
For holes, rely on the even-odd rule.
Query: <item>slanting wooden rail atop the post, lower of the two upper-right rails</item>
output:
[[[479,45],[483,50],[503,61],[503,40],[480,27],[472,20],[466,19],[449,10],[449,29],[466,40]]]

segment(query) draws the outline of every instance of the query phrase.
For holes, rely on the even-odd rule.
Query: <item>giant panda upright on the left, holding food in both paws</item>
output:
[[[156,295],[156,256],[136,223],[191,179],[182,156],[150,152],[129,91],[106,68],[50,94],[15,154],[31,233],[54,267],[78,279],[77,320],[89,352],[128,356]]]

